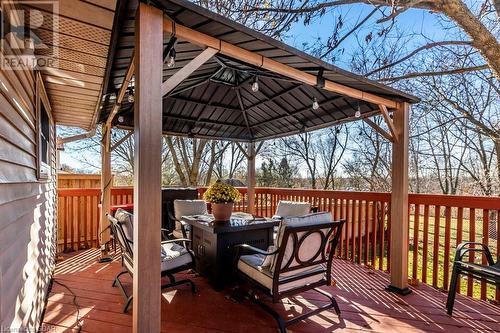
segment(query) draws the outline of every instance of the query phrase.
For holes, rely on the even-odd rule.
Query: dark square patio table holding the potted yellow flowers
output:
[[[273,229],[279,220],[233,213],[230,221],[214,222],[212,215],[183,216],[191,226],[191,246],[196,271],[216,290],[232,282],[234,245],[246,243],[267,250],[273,243]]]

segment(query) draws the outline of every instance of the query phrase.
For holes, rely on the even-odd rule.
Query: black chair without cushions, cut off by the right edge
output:
[[[466,254],[470,256],[477,252],[480,252],[485,256],[487,262],[486,265],[463,260]],[[448,299],[446,301],[446,308],[450,316],[453,313],[453,305],[455,303],[457,283],[460,278],[460,274],[471,275],[476,279],[484,279],[486,282],[492,283],[496,285],[497,288],[500,288],[500,255],[495,263],[490,249],[482,243],[464,242],[457,246],[455,260],[453,262],[450,288],[448,290]]]

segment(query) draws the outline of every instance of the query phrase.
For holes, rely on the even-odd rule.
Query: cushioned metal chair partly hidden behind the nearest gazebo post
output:
[[[111,222],[111,228],[117,236],[118,243],[121,248],[122,266],[124,271],[120,272],[113,281],[113,287],[118,285],[125,299],[123,312],[132,302],[132,295],[128,295],[125,291],[123,283],[120,281],[120,276],[124,274],[133,274],[133,224],[132,215],[124,210],[118,210],[115,216],[108,215]],[[177,244],[179,242],[190,242],[189,239],[173,239],[161,242],[161,276],[167,276],[169,283],[162,284],[161,289],[170,288],[182,284],[189,284],[191,291],[196,292],[196,286],[190,279],[176,280],[175,273],[194,268],[193,253],[185,247]]]

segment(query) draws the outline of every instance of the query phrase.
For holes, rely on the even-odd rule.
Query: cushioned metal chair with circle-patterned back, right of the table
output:
[[[289,325],[332,307],[340,316],[335,298],[318,287],[331,284],[333,253],[344,222],[331,222],[330,213],[285,218],[279,226],[279,246],[275,251],[266,252],[247,244],[236,246],[238,277],[250,283],[250,300],[274,317],[280,332],[285,332]],[[256,297],[254,288],[270,296],[273,303],[307,290],[320,293],[329,302],[285,321]]]

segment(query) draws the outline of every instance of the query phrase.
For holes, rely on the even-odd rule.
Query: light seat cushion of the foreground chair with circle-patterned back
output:
[[[272,294],[273,273],[270,271],[269,267],[261,266],[263,261],[264,261],[264,256],[260,254],[241,256],[240,260],[238,261],[238,269],[242,273],[250,277],[252,280],[257,281],[259,284],[268,288]],[[280,280],[282,281],[285,278],[290,278],[297,274],[303,274],[304,272],[313,272],[313,271],[317,271],[318,273],[309,277],[305,277],[303,279],[281,284],[278,287],[278,291],[281,293],[290,289],[302,287],[311,283],[321,281],[325,277],[323,266],[317,265],[313,267],[306,267],[304,269],[300,269],[297,271],[283,273],[280,276]]]

